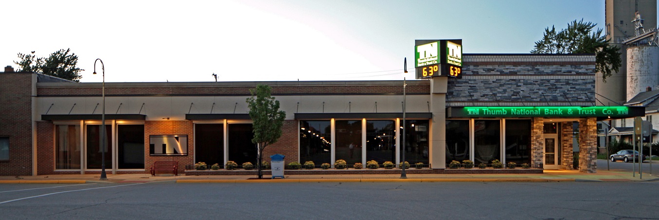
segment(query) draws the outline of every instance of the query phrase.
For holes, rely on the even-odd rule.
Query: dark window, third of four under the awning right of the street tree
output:
[[[366,121],[366,161],[394,161],[395,121]]]

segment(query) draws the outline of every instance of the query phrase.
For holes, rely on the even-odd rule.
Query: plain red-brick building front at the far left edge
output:
[[[9,138],[9,161],[0,175],[32,175],[33,75],[0,72],[0,137]]]

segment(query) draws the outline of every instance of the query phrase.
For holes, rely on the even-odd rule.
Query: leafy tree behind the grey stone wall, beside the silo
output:
[[[567,29],[556,32],[544,29],[542,40],[536,41],[531,53],[594,53],[595,70],[602,72],[602,80],[617,72],[622,63],[617,46],[612,46],[602,36],[602,29],[593,31],[597,24],[574,20],[567,24]]]

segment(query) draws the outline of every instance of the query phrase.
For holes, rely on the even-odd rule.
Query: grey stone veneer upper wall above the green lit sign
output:
[[[466,54],[448,106],[592,105],[594,55]]]

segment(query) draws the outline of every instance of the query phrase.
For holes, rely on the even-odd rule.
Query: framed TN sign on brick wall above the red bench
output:
[[[188,155],[187,135],[152,135],[149,138],[152,156]]]

